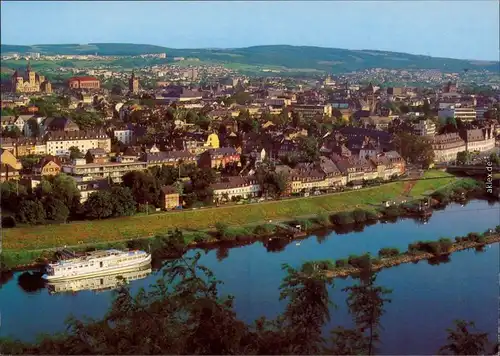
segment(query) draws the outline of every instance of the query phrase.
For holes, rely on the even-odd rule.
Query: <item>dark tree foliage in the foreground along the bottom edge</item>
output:
[[[376,284],[370,267],[345,288],[355,327],[334,328],[324,338],[331,304],[321,262],[300,269],[284,265],[280,299],[288,302],[276,319],[264,317],[247,325],[236,317],[233,298],[222,298],[221,283],[198,264],[200,255],[170,261],[150,292],[132,296],[123,285],[102,320],[71,320],[69,331],[37,344],[2,340],[7,354],[375,354],[380,319],[390,290]],[[458,321],[441,352],[477,355],[488,352],[487,334]]]

